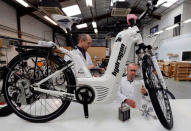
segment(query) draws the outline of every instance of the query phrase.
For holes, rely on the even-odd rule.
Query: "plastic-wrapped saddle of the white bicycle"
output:
[[[53,14],[52,18],[61,26],[61,28],[66,28],[71,30],[71,27],[74,23],[80,23],[81,18],[78,17],[69,17],[58,14]]]

